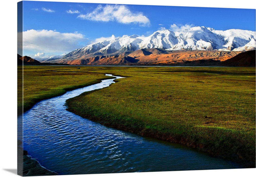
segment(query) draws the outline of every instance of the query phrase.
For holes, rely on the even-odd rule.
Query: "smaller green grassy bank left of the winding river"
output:
[[[26,111],[38,101],[110,78],[104,74],[77,68],[77,66],[18,66],[18,114],[22,113],[22,106]]]

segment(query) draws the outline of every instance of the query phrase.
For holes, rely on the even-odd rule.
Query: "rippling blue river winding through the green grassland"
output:
[[[43,100],[25,112],[23,145],[28,154],[60,175],[243,168],[183,145],[105,127],[65,110],[65,100],[122,78],[113,77]]]

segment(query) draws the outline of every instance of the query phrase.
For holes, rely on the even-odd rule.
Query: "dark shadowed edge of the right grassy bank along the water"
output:
[[[70,100],[72,101],[72,100]],[[170,134],[167,132],[159,132],[156,130],[154,126],[148,127],[150,125],[144,124],[142,122],[134,121],[134,120],[128,120],[126,117],[118,117],[117,119],[111,119],[110,117],[112,115],[95,115],[95,112],[92,111],[91,114],[85,114],[77,110],[77,108],[70,108],[73,107],[72,103],[69,101],[67,102],[69,108],[67,109],[70,112],[73,112],[83,118],[89,119],[94,122],[98,122],[104,126],[120,129],[123,131],[135,133],[141,136],[146,136],[146,137],[153,137],[161,140],[166,140],[172,143],[180,143],[187,145],[188,147],[192,148],[197,148],[200,149],[204,152],[208,152],[211,154],[213,157],[218,157],[226,160],[230,160],[236,163],[241,164],[242,166],[246,168],[255,168],[255,161],[254,160],[254,153],[253,150],[248,152],[247,145],[242,145],[240,144],[240,152],[239,154],[236,154],[237,152],[233,151],[232,147],[237,146],[236,139],[233,139],[232,142],[234,144],[230,144],[230,141],[228,142],[229,145],[231,146],[226,146],[226,145],[220,145],[219,144],[214,144],[214,143],[200,143],[200,142],[195,142],[195,139],[188,139],[185,136],[189,136],[188,134],[183,135],[175,135],[175,134]],[[210,133],[210,132],[208,132]],[[191,134],[191,136],[194,136]],[[242,139],[240,139],[242,141]],[[234,145],[234,146],[233,146]],[[244,159],[244,157],[247,157],[247,159]],[[252,158],[251,158],[252,157]]]

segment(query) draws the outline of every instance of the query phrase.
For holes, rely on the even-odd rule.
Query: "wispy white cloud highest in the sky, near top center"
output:
[[[140,26],[149,26],[150,20],[142,12],[133,13],[125,5],[98,5],[91,13],[81,14],[78,18],[92,21],[117,21],[129,24],[138,23]]]

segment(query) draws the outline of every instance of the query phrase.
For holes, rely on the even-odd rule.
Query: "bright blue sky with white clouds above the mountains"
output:
[[[23,55],[60,55],[103,39],[194,26],[255,31],[255,9],[23,1]]]

